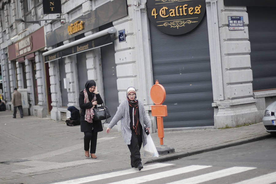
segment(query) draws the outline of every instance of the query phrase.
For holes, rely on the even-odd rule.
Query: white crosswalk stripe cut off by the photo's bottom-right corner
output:
[[[248,180],[244,180],[242,182],[237,182],[234,184],[270,184],[270,183],[274,183],[276,181],[276,172],[274,173],[270,173],[270,174],[265,174],[256,178],[252,178],[252,179],[248,179]]]

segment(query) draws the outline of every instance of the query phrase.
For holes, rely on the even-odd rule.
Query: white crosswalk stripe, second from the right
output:
[[[220,171],[216,171],[216,172],[211,172],[208,174],[202,174],[199,176],[195,176],[192,178],[187,178],[187,179],[182,179],[176,182],[171,182],[171,183],[167,183],[167,184],[182,184],[182,183],[189,183],[189,184],[196,184],[196,183],[201,183],[201,182],[206,182],[212,179],[216,179],[216,178],[221,178],[224,176],[229,176],[232,174],[237,174],[240,172],[244,172],[244,171],[248,171],[251,169],[255,169],[255,167],[231,167],[228,169],[223,169]]]

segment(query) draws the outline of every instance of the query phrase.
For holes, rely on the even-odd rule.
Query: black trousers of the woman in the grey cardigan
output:
[[[130,162],[131,165],[137,167],[141,163],[141,155],[140,149],[142,146],[142,132],[140,131],[140,135],[136,135],[134,130],[131,130],[131,140],[128,145],[128,149],[130,151]]]

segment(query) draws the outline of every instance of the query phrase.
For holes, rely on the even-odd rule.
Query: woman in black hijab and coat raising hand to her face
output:
[[[100,120],[93,120],[94,107],[97,104],[102,104],[102,98],[98,92],[96,82],[89,80],[85,84],[85,88],[79,94],[79,107],[81,108],[81,132],[84,132],[84,151],[85,156],[89,157],[89,144],[90,144],[90,155],[93,159],[96,159],[96,145],[97,135],[101,132],[102,122]]]

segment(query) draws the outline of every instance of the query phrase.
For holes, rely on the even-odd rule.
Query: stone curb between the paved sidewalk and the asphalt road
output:
[[[251,143],[251,142],[255,142],[255,141],[259,141],[259,140],[264,140],[264,139],[267,139],[270,137],[271,137],[270,134],[265,134],[265,135],[260,135],[260,136],[254,136],[251,138],[243,138],[241,140],[231,141],[231,142],[223,143],[220,145],[213,145],[213,146],[209,146],[206,148],[198,148],[198,149],[195,149],[195,150],[192,150],[189,152],[181,151],[181,152],[177,152],[177,153],[169,153],[167,155],[161,155],[160,157],[154,157],[154,158],[148,159],[148,161],[146,161],[144,164],[155,163],[155,162],[166,162],[169,160],[175,160],[175,159],[179,159],[179,158],[183,158],[183,157],[187,157],[187,156],[191,156],[191,155],[196,155],[196,154],[200,154],[200,153],[204,153],[204,152],[208,152],[208,151],[214,151],[214,150],[218,150],[218,149],[222,149],[222,148],[228,148],[228,147],[237,146],[237,145],[241,145],[241,144],[245,144],[245,143]]]

